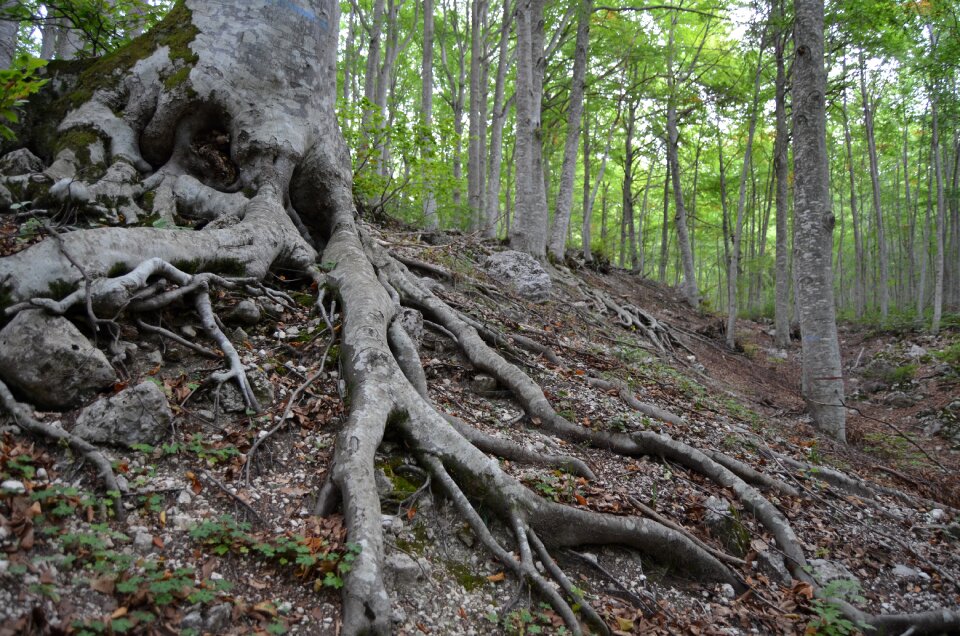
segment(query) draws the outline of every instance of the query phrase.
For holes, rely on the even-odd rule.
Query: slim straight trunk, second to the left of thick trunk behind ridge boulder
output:
[[[486,102],[487,92],[480,86],[481,67],[484,64],[483,23],[487,11],[486,0],[470,2],[470,93],[469,129],[467,140],[467,206],[470,209],[470,226],[481,229],[481,199],[483,192],[483,163],[481,148],[484,144],[483,126],[480,123],[481,100]]]

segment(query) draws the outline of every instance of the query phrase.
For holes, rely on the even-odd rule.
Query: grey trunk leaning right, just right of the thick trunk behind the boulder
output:
[[[570,211],[573,208],[573,180],[577,167],[577,149],[580,146],[580,118],[583,115],[587,55],[590,45],[590,15],[593,0],[578,2],[577,39],[573,55],[573,76],[570,79],[570,107],[567,111],[567,137],[563,146],[563,165],[560,168],[560,188],[553,211],[550,233],[550,254],[563,260]]]

